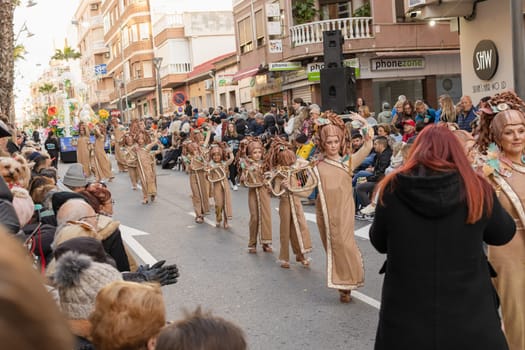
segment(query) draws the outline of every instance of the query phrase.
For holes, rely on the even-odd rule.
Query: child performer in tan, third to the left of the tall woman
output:
[[[215,201],[215,226],[221,226],[224,213],[224,228],[227,229],[228,220],[232,218],[232,199],[227,174],[228,167],[233,163],[233,151],[227,145],[212,144],[209,154],[211,159],[207,171]],[[228,158],[223,160],[226,155]]]

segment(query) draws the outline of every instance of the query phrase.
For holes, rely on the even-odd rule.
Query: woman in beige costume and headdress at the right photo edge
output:
[[[494,285],[501,300],[504,332],[510,350],[525,349],[525,103],[506,92],[489,101],[494,109],[481,111],[479,145],[485,151],[484,172],[516,222],[514,238],[489,246],[496,270]],[[511,109],[512,108],[512,109]],[[495,112],[500,111],[495,114]],[[495,114],[495,116],[494,116]],[[488,145],[491,141],[494,143]]]

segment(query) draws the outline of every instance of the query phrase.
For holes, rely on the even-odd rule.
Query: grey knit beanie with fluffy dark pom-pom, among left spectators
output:
[[[66,252],[56,263],[54,281],[62,311],[69,319],[85,320],[93,312],[98,292],[111,282],[122,281],[122,274],[87,255]]]

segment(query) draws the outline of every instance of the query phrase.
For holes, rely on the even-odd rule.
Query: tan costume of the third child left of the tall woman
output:
[[[215,221],[220,223],[224,214],[224,220],[229,221],[233,216],[232,198],[230,186],[228,185],[228,167],[233,162],[233,156],[221,163],[210,162],[208,179],[211,184],[211,192],[215,200]],[[219,181],[214,181],[221,178]]]

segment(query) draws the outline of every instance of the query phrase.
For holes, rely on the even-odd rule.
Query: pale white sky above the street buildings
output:
[[[24,23],[29,32],[34,34],[32,37],[27,37],[27,32],[20,32],[17,42],[23,44],[27,51],[25,59],[17,61],[15,66],[17,115],[20,114],[24,101],[29,99],[30,84],[38,80],[48,67],[49,59],[55,49],[62,49],[67,33],[74,30],[71,21],[80,0],[34,0],[34,2],[37,5],[26,7],[28,0],[22,0],[21,6],[15,10],[15,38]],[[232,0],[150,0],[150,4],[152,8],[166,12],[218,11],[232,8]],[[68,45],[72,46],[74,43],[73,37],[70,37]]]

